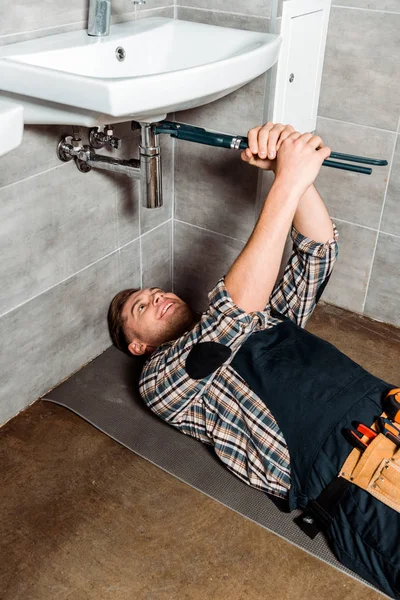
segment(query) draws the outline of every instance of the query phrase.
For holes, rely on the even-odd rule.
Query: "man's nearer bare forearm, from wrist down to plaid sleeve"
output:
[[[232,300],[246,312],[264,310],[274,288],[300,196],[275,181],[246,246],[225,276]]]

